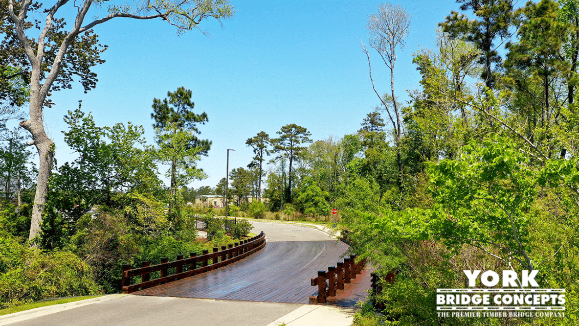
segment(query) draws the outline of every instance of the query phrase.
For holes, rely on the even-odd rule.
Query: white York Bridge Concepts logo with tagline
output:
[[[464,270],[468,288],[437,289],[439,317],[565,317],[565,289],[538,288],[538,271]],[[486,288],[477,287],[477,278]],[[500,279],[503,288],[496,288]]]

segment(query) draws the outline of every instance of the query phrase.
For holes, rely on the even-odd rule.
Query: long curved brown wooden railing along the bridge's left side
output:
[[[262,231],[258,236],[243,240],[240,243],[229,244],[228,247],[226,249],[225,246],[221,246],[221,251],[218,248],[213,248],[212,253],[204,250],[201,256],[197,256],[196,252],[192,252],[189,253],[189,258],[183,258],[183,255],[178,255],[177,260],[173,262],[168,262],[167,258],[161,258],[159,265],[151,266],[151,262],[144,262],[142,267],[136,269],[131,269],[130,265],[123,265],[122,292],[128,294],[139,289],[155,287],[156,285],[181,280],[181,278],[205,273],[206,271],[237,262],[237,260],[243,259],[265,247],[265,234]],[[183,267],[187,270],[184,271]],[[168,275],[168,269],[173,268],[175,269],[175,274]],[[156,271],[160,271],[160,277],[151,280],[151,273]],[[134,276],[141,276],[141,282],[131,284],[131,277]]]

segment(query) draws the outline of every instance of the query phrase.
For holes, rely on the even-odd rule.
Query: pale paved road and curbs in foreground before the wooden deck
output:
[[[350,326],[353,314],[331,306],[113,294],[0,316],[0,326]]]

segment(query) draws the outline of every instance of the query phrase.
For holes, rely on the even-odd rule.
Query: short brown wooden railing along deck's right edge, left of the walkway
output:
[[[362,273],[366,263],[364,260],[356,263],[355,260],[356,255],[351,255],[350,258],[344,258],[343,263],[336,263],[338,266],[328,267],[328,271],[318,270],[318,276],[312,278],[312,286],[318,286],[318,295],[310,296],[310,305],[326,303],[328,296],[336,296],[336,290],[343,290],[344,284],[350,283],[351,278]]]

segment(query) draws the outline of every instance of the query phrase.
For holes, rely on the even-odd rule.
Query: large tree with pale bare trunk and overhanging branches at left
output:
[[[85,21],[91,6],[97,2],[81,1],[69,3],[75,6],[74,23],[69,24],[70,30],[64,29],[65,19],[56,17],[61,9],[66,10],[67,2],[56,1],[54,5],[42,6],[32,1],[8,0],[8,15],[10,17],[13,36],[17,39],[15,46],[19,51],[14,55],[22,57],[30,64],[30,117],[20,122],[20,126],[31,133],[30,145],[35,145],[39,157],[39,173],[36,185],[30,240],[34,239],[42,224],[42,213],[45,209],[47,184],[52,171],[54,158],[54,143],[46,134],[43,121],[43,107],[52,91],[60,88],[70,88],[73,75],[78,75],[85,90],[94,88],[96,74],[91,68],[102,63],[100,53],[102,46],[98,45],[93,27],[117,17],[149,20],[162,19],[177,27],[178,31],[199,28],[201,20],[213,17],[218,21],[227,19],[233,14],[233,7],[227,0],[214,1],[153,1],[141,2],[135,6],[111,4],[108,15],[94,17]],[[2,11],[6,6],[1,6]],[[44,23],[36,23],[30,12],[45,12]],[[2,19],[3,26],[5,25]],[[28,37],[31,27],[38,26],[38,37]],[[8,28],[10,30],[10,28]],[[17,67],[20,68],[20,67]],[[25,69],[24,69],[25,70]],[[24,72],[21,70],[19,72]],[[34,245],[34,242],[32,242]]]

